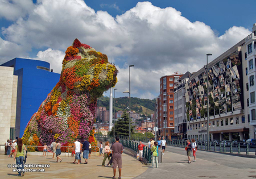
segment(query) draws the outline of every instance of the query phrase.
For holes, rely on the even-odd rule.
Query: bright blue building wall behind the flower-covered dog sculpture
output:
[[[60,74],[50,72],[50,64],[40,60],[15,58],[1,66],[13,67],[18,76],[15,135],[21,138],[31,116],[59,82]]]

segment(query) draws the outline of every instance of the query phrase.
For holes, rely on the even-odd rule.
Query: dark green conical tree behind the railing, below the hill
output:
[[[121,119],[118,119],[114,124],[115,135],[118,136],[129,136],[129,115],[124,112]],[[110,135],[113,135],[113,129],[110,132]],[[131,133],[133,133],[133,128],[131,128]]]

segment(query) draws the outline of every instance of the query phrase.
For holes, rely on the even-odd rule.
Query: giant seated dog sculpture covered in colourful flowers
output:
[[[117,83],[117,73],[106,55],[75,39],[67,48],[60,81],[27,124],[24,144],[50,145],[57,139],[71,146],[79,138],[96,145],[92,127],[97,97]]]

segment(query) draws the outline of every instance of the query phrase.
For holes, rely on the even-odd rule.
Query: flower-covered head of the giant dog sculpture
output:
[[[63,60],[60,85],[79,94],[84,91],[97,98],[117,83],[118,70],[108,57],[75,39]]]

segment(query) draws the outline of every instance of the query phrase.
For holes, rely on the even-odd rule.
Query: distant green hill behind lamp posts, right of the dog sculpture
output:
[[[109,97],[100,97],[97,106],[106,107],[109,110]],[[115,111],[125,111],[129,107],[129,97],[115,98]],[[114,99],[113,99],[114,108]],[[155,110],[155,99],[141,99],[131,97],[131,110],[139,114],[151,115]]]

